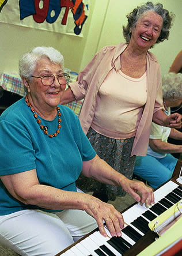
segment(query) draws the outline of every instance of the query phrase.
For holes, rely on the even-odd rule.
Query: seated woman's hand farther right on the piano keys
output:
[[[124,178],[121,186],[128,194],[132,195],[136,202],[142,202],[142,204],[147,202],[147,205],[154,204],[153,189],[145,186],[143,182]],[[138,194],[138,192],[141,194],[141,196]]]

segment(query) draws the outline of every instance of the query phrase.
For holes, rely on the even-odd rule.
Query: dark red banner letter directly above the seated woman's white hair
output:
[[[35,3],[36,14],[33,14],[33,19],[38,23],[42,23],[47,17],[50,0],[43,0],[42,9],[40,9],[39,7],[40,0],[34,0],[34,3]]]

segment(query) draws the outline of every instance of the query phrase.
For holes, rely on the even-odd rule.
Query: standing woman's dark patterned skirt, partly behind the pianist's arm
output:
[[[136,156],[130,156],[134,137],[127,139],[108,138],[97,133],[91,127],[87,137],[101,159],[120,174],[132,179]],[[79,176],[76,185],[84,192],[93,191],[106,194],[108,199],[112,201],[116,199],[116,196],[123,197],[126,194],[122,187],[103,184],[83,175]]]

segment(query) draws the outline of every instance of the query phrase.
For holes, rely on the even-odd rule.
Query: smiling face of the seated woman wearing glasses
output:
[[[63,70],[60,65],[52,63],[45,58],[37,61],[32,76],[42,77],[45,74],[58,76],[61,73],[63,73]],[[38,112],[55,110],[66,88],[66,85],[59,84],[57,78],[55,78],[52,85],[44,86],[41,78],[33,77],[31,81],[25,83],[25,86],[28,89],[28,98]]]

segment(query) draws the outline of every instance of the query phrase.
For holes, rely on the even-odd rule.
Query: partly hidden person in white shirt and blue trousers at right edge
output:
[[[162,92],[166,115],[170,115],[170,107],[182,104],[182,74],[166,74],[162,78]],[[178,159],[171,153],[182,153],[182,143],[170,144],[168,137],[182,141],[180,131],[152,123],[147,155],[136,156],[134,174],[147,180],[154,189],[170,179],[175,170]]]

